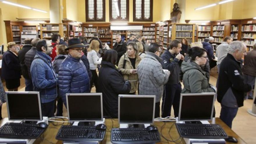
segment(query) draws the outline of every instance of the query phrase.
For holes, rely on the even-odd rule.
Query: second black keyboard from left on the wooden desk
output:
[[[61,141],[102,141],[106,134],[106,130],[96,129],[95,126],[61,126],[57,140]]]

